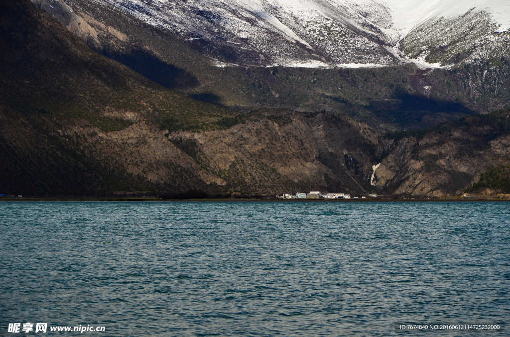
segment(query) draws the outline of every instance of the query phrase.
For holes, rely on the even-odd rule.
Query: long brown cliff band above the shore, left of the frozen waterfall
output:
[[[380,137],[366,124],[323,114],[253,116],[228,129],[171,133],[145,121],[104,131],[46,116],[19,123],[21,116],[6,109],[0,117],[3,170],[9,171],[2,187],[25,192],[364,193],[373,191],[368,178]],[[70,181],[70,172],[91,177]]]

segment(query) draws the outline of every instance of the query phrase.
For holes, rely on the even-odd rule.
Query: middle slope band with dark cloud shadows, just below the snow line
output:
[[[53,0],[41,1],[51,2]],[[123,4],[127,6],[131,3]],[[402,60],[405,61],[401,66],[361,69],[281,66],[271,68],[216,67],[210,61],[211,52],[221,53],[221,50],[224,50],[214,47],[213,44],[216,42],[208,44],[211,48],[203,49],[196,43],[194,44],[193,41],[198,40],[184,39],[184,33],[172,33],[165,27],[145,23],[126,13],[124,7],[119,5],[117,8],[105,1],[69,0],[68,4],[73,8],[74,13],[83,17],[96,32],[100,46],[91,45],[95,50],[122,62],[162,86],[226,106],[242,109],[286,107],[309,112],[338,111],[381,130],[391,130],[430,127],[463,115],[487,113],[494,109],[505,108],[510,97],[505,91],[507,87],[505,83],[510,80],[510,77],[504,69],[501,69],[500,65],[488,66],[485,62],[476,62],[471,64],[473,67],[470,69],[465,69],[459,64],[451,70],[423,71],[415,67],[413,63],[409,64],[411,62],[409,59],[402,59],[401,56],[398,56],[402,52],[396,52],[394,49],[390,51],[397,54],[396,58],[400,60],[397,64]],[[151,2],[147,2],[147,4],[147,6],[152,6]],[[297,6],[294,2],[292,4],[292,6]],[[188,10],[189,15],[196,16],[198,14],[195,13],[196,11],[194,12],[194,8],[198,5],[199,3],[188,2],[186,5],[182,3],[179,6],[182,7],[180,7],[180,11]],[[137,8],[144,8],[140,6]],[[285,11],[299,12],[298,9],[304,8],[303,6],[298,6],[297,9],[285,9]],[[366,10],[368,9],[366,8]],[[279,13],[281,10],[284,9],[279,9],[277,12]],[[359,10],[361,11],[361,9]],[[166,10],[160,9],[161,11],[165,12]],[[153,14],[157,18],[161,14],[160,12]],[[369,12],[362,12],[367,16],[363,20],[371,18]],[[394,12],[392,15],[395,14]],[[310,20],[312,19],[313,17],[310,17]],[[201,24],[200,20],[191,21]],[[373,21],[375,22],[377,19],[373,19]],[[200,32],[209,32],[208,34],[214,35],[217,30],[221,31],[221,27],[216,26],[221,26],[222,22],[210,23],[211,27],[215,27],[213,31],[206,29]],[[294,22],[295,25],[299,26],[296,22]],[[398,39],[406,32],[405,29],[409,29],[409,25],[404,25],[404,28],[394,25],[382,33],[379,32],[382,34],[380,38],[372,40],[377,44],[386,39],[391,45],[391,41],[394,41],[392,39],[395,36]],[[232,34],[235,33],[235,31],[232,32]],[[273,36],[276,33],[271,34]],[[349,39],[347,41],[350,41]],[[247,43],[256,43],[256,40],[247,39],[246,41]],[[325,46],[326,42],[322,43],[321,41],[326,40],[321,38],[318,40],[318,44],[313,44],[310,41],[309,44]],[[225,41],[222,39],[217,41],[217,43],[223,42]],[[296,43],[291,44],[297,46]],[[335,49],[337,43],[328,45]],[[380,44],[377,45],[381,47]],[[418,43],[416,46],[421,52],[422,45]],[[386,47],[382,46],[381,48],[384,49],[385,54],[388,54]],[[232,44],[229,48],[231,49],[228,50],[234,54],[239,50],[242,53],[248,52],[246,48],[243,49],[242,45]],[[308,53],[307,48],[299,47],[298,49]],[[335,50],[341,54],[355,54],[354,50],[345,52],[342,48],[342,45],[338,45]],[[278,51],[279,49],[272,47],[271,50]],[[232,54],[231,51],[228,54]],[[362,50],[360,52],[364,53]],[[292,53],[287,54],[292,55]],[[396,60],[395,57],[392,58]],[[502,59],[506,60],[507,56],[503,55]],[[258,60],[268,62],[269,59]],[[416,60],[415,62],[420,64],[420,67],[425,65],[423,62],[420,63]],[[501,61],[499,62],[501,63]],[[496,91],[483,85],[484,79],[488,76],[498,76],[499,84]],[[470,80],[471,78],[475,78],[475,80]],[[466,86],[466,82],[468,86]],[[416,98],[418,102],[424,99],[430,100],[430,104],[413,104],[412,106],[419,108],[412,111],[402,108],[406,107],[406,103],[409,101],[407,98],[401,99],[402,91],[407,91],[409,97]],[[388,101],[391,104],[386,104]],[[384,111],[379,108],[381,106],[385,106]],[[438,107],[441,106],[455,107],[455,109],[453,111],[449,108],[438,110]]]

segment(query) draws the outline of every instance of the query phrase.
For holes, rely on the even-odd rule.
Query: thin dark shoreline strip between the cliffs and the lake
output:
[[[388,203],[388,202],[510,202],[496,198],[438,198],[438,199],[162,199],[162,198],[2,198],[0,202],[278,202],[278,203]]]

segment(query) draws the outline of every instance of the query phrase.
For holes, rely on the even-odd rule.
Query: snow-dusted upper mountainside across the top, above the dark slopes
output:
[[[429,67],[424,62],[431,62],[427,58],[430,49],[444,49],[459,39],[465,40],[463,46],[452,49],[461,52],[473,44],[500,43],[497,40],[510,27],[510,2],[506,0],[97,3],[105,1],[181,35],[218,66],[375,67],[415,62]],[[445,64],[444,58],[433,61],[438,61],[436,66]]]

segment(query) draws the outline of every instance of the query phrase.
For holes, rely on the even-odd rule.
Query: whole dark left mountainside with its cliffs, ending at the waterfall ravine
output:
[[[1,13],[2,190],[363,189],[377,139],[366,125],[288,110],[239,116],[95,53],[28,2]],[[345,153],[358,161],[339,171]]]

